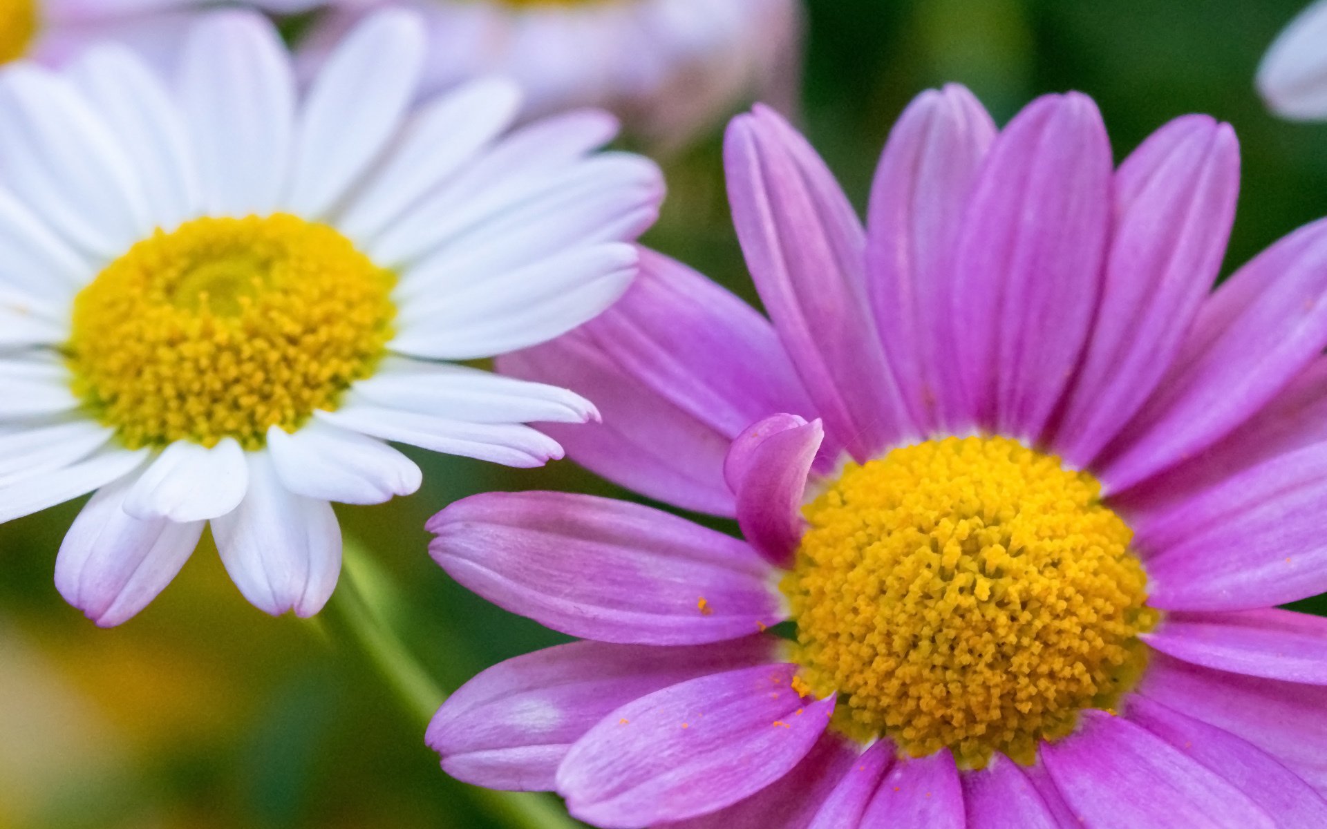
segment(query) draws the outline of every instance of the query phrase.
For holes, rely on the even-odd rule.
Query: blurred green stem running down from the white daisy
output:
[[[399,606],[395,589],[386,576],[353,540],[345,541],[341,582],[332,597],[332,609],[350,638],[391,687],[402,707],[422,727],[427,727],[447,692],[410,654],[378,607]],[[318,627],[325,635],[325,629]],[[576,829],[577,824],[547,795],[499,792],[464,787],[467,795],[514,829]]]

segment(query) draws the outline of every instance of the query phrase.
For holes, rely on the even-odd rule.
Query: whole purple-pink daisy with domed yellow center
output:
[[[504,359],[644,495],[491,493],[433,554],[587,639],[438,712],[451,775],[608,828],[1327,825],[1327,223],[1214,293],[1233,131],[1116,170],[1096,106],[962,88],[885,147],[865,229],[784,121],[729,131],[772,324],[649,255]],[[791,622],[764,633],[782,622]],[[779,637],[774,633],[786,631]]]

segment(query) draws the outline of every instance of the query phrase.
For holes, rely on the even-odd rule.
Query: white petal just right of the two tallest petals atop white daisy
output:
[[[506,80],[482,78],[426,105],[337,225],[353,239],[382,232],[434,190],[516,117],[520,92]]]

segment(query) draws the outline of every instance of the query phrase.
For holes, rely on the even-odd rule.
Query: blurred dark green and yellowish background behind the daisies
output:
[[[804,126],[864,204],[889,125],[920,90],[967,84],[999,122],[1046,92],[1099,102],[1117,157],[1164,121],[1234,125],[1243,188],[1225,272],[1327,214],[1327,126],[1269,115],[1262,52],[1300,0],[811,0]],[[751,298],[719,126],[664,159],[654,247]],[[569,462],[512,471],[417,452],[414,497],[340,511],[381,573],[390,626],[442,687],[559,637],[467,594],[425,520],[488,489],[625,495]],[[0,527],[0,829],[504,825],[423,747],[419,711],[350,645],[344,614],[271,619],[204,545],[130,623],[102,631],[52,581],[69,504]],[[333,600],[337,605],[338,600]],[[1302,609],[1323,610],[1319,601]]]

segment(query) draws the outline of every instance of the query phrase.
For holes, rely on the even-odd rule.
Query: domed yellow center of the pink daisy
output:
[[[932,440],[849,466],[805,517],[783,582],[799,679],[839,694],[855,739],[1031,763],[1141,672],[1157,613],[1133,532],[1058,458]]]

